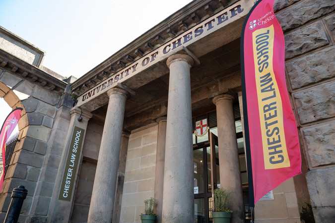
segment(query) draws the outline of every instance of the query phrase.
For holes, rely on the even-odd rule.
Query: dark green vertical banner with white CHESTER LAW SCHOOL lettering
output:
[[[84,138],[84,133],[84,129],[74,126],[71,143],[68,149],[67,163],[64,169],[60,195],[58,197],[59,200],[71,200],[75,173],[78,168],[78,162],[80,159],[79,155],[82,145],[82,139]]]

